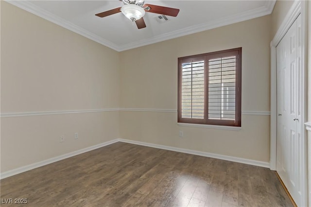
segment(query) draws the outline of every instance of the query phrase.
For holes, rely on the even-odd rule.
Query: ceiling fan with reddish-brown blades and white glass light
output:
[[[135,21],[138,29],[146,27],[143,16],[145,12],[152,12],[161,15],[167,15],[176,17],[178,15],[179,9],[174,9],[170,7],[157,6],[152,4],[145,4],[145,0],[120,0],[124,3],[123,6],[96,14],[97,17],[107,17],[109,15],[117,14],[122,12],[122,14]]]

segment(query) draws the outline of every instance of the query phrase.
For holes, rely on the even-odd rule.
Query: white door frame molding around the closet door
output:
[[[306,182],[302,182],[303,192],[302,195],[304,200],[302,201],[302,206],[307,206],[308,201],[308,190],[307,190],[307,133],[304,127],[304,122],[306,119],[306,112],[307,112],[307,47],[306,46],[306,28],[307,27],[307,9],[308,9],[308,2],[304,0],[294,1],[291,9],[285,16],[283,22],[281,23],[280,27],[278,28],[276,35],[274,36],[273,40],[270,43],[270,64],[271,64],[271,74],[270,74],[270,81],[271,81],[271,89],[270,89],[270,169],[276,170],[276,116],[277,116],[277,107],[276,107],[276,46],[281,41],[283,36],[289,30],[291,25],[294,23],[295,19],[301,15],[301,72],[302,72],[302,81],[300,82],[301,90],[301,97],[302,97],[302,104],[303,107],[301,108],[301,137],[304,140],[304,155],[303,155],[303,162],[302,167],[303,171],[301,172],[301,179],[305,180]]]

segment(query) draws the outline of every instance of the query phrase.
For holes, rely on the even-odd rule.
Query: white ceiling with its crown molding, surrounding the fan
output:
[[[119,0],[8,0],[26,11],[116,51],[189,35],[272,13],[276,0],[145,0],[145,3],[180,9],[177,17],[159,23],[146,12],[147,27],[137,29],[122,13],[95,14],[121,7]]]

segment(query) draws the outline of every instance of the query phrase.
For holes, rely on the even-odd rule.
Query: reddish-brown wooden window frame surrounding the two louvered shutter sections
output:
[[[236,55],[236,75],[235,75],[235,120],[214,120],[208,119],[208,60],[224,56]],[[204,60],[204,119],[183,118],[182,117],[182,64],[185,62],[195,62]],[[208,124],[221,126],[241,127],[241,104],[242,104],[242,48],[235,48],[217,52],[208,52],[198,55],[190,55],[178,58],[178,102],[177,121],[179,123]]]

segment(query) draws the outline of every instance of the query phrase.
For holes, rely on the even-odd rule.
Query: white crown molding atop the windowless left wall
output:
[[[98,35],[95,35],[93,33],[90,33],[88,32],[87,30],[81,28],[81,27],[78,27],[77,25],[75,24],[72,24],[71,22],[61,18],[61,17],[58,17],[54,14],[52,14],[51,12],[48,12],[44,9],[42,9],[41,7],[38,7],[36,6],[35,4],[31,3],[30,1],[28,0],[5,0],[6,2],[14,5],[14,6],[17,6],[18,8],[20,9],[23,9],[27,12],[30,12],[38,17],[42,17],[48,21],[51,21],[61,27],[64,27],[74,33],[77,33],[79,35],[82,35],[88,39],[91,39],[95,42],[98,42],[108,48],[111,48],[115,51],[118,51],[118,46]]]

